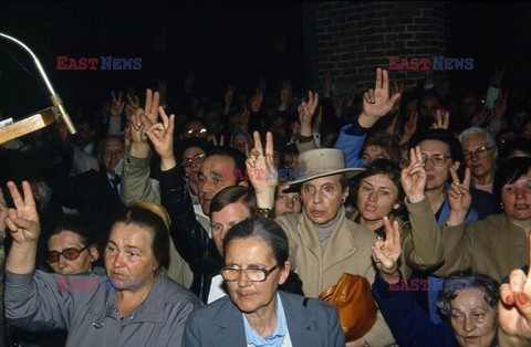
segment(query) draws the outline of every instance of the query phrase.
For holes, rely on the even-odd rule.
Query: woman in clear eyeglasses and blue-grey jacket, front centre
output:
[[[223,246],[229,297],[190,314],[181,346],[345,346],[335,307],[278,291],[290,272],[280,225],[251,218],[229,230]]]

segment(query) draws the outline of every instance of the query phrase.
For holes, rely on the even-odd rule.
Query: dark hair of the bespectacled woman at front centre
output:
[[[246,219],[230,228],[223,239],[223,248],[227,250],[227,245],[232,240],[250,238],[262,239],[271,248],[279,267],[284,267],[284,263],[290,257],[290,246],[285,232],[277,222],[263,217]]]

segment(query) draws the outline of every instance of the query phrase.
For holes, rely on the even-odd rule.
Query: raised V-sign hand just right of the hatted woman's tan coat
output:
[[[393,277],[398,274],[398,260],[402,255],[400,227],[397,221],[389,222],[384,217],[385,241],[376,239],[373,246],[373,260],[384,277]]]

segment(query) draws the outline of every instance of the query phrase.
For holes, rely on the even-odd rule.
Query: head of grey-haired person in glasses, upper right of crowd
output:
[[[459,141],[465,164],[472,174],[473,187],[491,193],[498,156],[494,137],[489,130],[471,127],[459,135]]]

